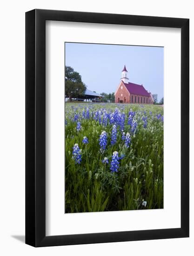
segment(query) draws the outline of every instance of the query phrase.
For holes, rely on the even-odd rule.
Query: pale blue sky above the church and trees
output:
[[[164,48],[65,43],[65,64],[80,73],[87,89],[115,92],[126,65],[129,81],[163,97]]]

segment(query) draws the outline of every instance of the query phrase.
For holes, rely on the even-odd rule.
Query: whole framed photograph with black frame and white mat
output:
[[[189,236],[189,20],[26,13],[26,243]]]

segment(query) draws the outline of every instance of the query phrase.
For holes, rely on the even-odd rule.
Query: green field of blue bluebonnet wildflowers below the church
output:
[[[163,108],[66,103],[65,212],[163,208]]]

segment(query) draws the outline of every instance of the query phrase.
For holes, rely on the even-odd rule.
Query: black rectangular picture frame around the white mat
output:
[[[181,228],[46,236],[46,20],[181,28]],[[34,247],[189,236],[189,19],[34,9],[26,13],[26,243]]]

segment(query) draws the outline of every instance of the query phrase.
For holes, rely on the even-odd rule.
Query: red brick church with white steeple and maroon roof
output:
[[[128,81],[126,67],[122,70],[120,84],[115,92],[115,103],[139,103],[153,104],[154,100],[151,93],[143,85],[134,84]]]

